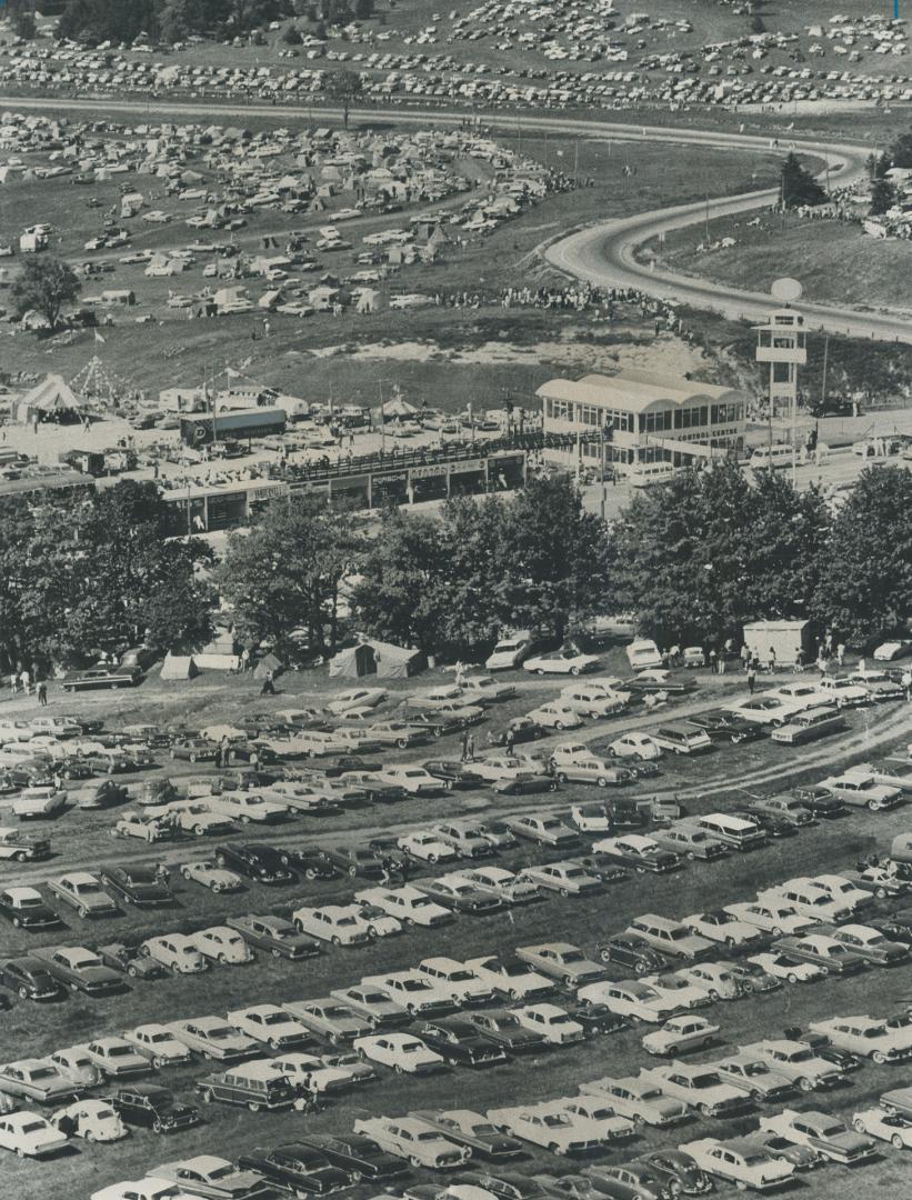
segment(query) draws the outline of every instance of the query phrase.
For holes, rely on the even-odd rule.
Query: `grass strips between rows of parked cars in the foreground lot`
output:
[[[618,670],[620,659],[618,652],[612,652],[605,660],[606,670]],[[438,678],[443,679],[444,676]],[[732,696],[743,689],[740,679],[728,674],[710,678],[698,673],[700,689],[696,703],[718,703],[724,695]],[[431,685],[433,676],[427,676],[420,686]],[[524,710],[533,698],[544,698],[557,691],[558,682],[532,682],[526,677],[517,678],[522,689],[521,696],[502,706],[493,720],[503,720],[515,712]],[[263,701],[256,697],[256,686],[242,679],[220,680],[212,676],[203,676],[192,684],[158,685],[150,679],[137,692],[118,698],[116,714],[108,697],[76,697],[67,700],[68,710],[106,715],[112,725],[130,720],[166,721],[182,718],[190,724],[203,724],[212,720],[230,720],[239,712],[262,709],[264,706],[281,707],[288,703],[323,703],[332,690],[323,671],[301,676],[290,674],[280,680],[282,695],[275,701]],[[691,701],[685,702],[688,706]],[[5,710],[14,715],[25,715],[26,707],[19,701],[4,704]],[[56,695],[52,695],[52,712],[58,707]],[[686,710],[679,708],[679,712]],[[852,714],[853,732],[870,728],[877,734],[881,728],[895,727],[901,731],[901,712],[893,707],[874,712]],[[594,745],[619,727],[618,722],[598,722],[583,731],[587,739],[594,738]],[[484,726],[476,738],[481,740]],[[852,743],[854,744],[854,743]],[[654,781],[662,791],[680,790],[688,793],[686,803],[692,811],[704,811],[713,806],[730,806],[743,799],[736,786],[750,786],[749,781],[757,772],[763,772],[779,764],[787,770],[790,763],[799,766],[811,760],[826,762],[823,769],[832,769],[835,762],[845,761],[850,743],[842,739],[830,748],[820,748],[803,754],[786,748],[776,748],[762,740],[750,748],[725,748],[694,762],[666,762],[662,775]],[[884,743],[886,749],[889,743]],[[845,748],[844,748],[845,746]],[[425,750],[414,750],[401,756],[410,761],[430,757],[436,754],[451,754],[451,739]],[[859,751],[856,749],[854,755]],[[821,763],[822,764],[822,763]],[[168,769],[172,769],[170,767]],[[821,770],[821,766],[817,768]],[[713,782],[713,781],[721,782]],[[727,780],[727,782],[726,782]],[[782,786],[785,780],[779,780]],[[776,786],[774,782],[773,786]],[[646,788],[643,788],[646,791]],[[703,796],[703,791],[706,794]],[[502,797],[493,802],[487,798],[487,808],[478,808],[474,793],[456,793],[458,805],[466,811],[503,814],[520,809],[548,806],[556,802],[566,806],[575,798],[592,799],[592,792],[577,787],[568,787],[558,797],[509,798]],[[407,828],[415,823],[430,823],[434,818],[451,815],[454,799],[450,796],[442,800],[412,800],[404,805],[384,808],[383,812],[362,810],[360,814],[348,814],[342,817],[326,817],[319,821],[304,818],[295,823],[296,836],[304,842],[314,840],[347,840],[354,829],[364,838],[373,829]],[[420,806],[420,815],[419,815]],[[143,847],[124,847],[112,842],[104,834],[104,824],[110,815],[71,814],[54,826],[54,842],[60,852],[56,866],[52,862],[47,868],[26,868],[29,877],[38,870],[44,877],[61,870],[64,859],[71,857],[97,864],[109,860],[113,856],[128,853],[143,856]],[[748,898],[756,888],[766,886],[788,875],[804,874],[808,864],[814,869],[826,870],[852,860],[860,851],[872,845],[872,835],[881,845],[888,842],[892,833],[907,826],[902,810],[871,817],[865,812],[853,812],[851,816],[833,823],[823,823],[811,830],[805,830],[796,838],[775,842],[767,850],[758,851],[746,859],[734,856],[712,866],[689,864],[688,868],[671,877],[631,876],[601,896],[593,900],[577,901],[572,898],[551,896],[544,904],[523,910],[515,917],[500,913],[491,918],[460,918],[450,930],[427,931],[413,930],[406,936],[374,944],[368,952],[326,948],[316,960],[302,965],[277,962],[258,956],[256,964],[247,967],[215,968],[204,977],[170,977],[155,983],[137,983],[132,990],[106,1000],[86,1001],[83,997],[71,997],[62,1004],[41,1007],[22,1001],[13,1004],[5,1014],[2,1044],[8,1051],[16,1046],[14,1054],[47,1052],[54,1046],[85,1040],[92,1033],[114,1032],[132,1026],[143,1020],[169,1020],[185,1015],[203,1013],[224,1013],[235,1007],[257,1001],[281,1002],[306,996],[325,995],[331,988],[344,986],[356,982],[364,973],[377,973],[384,970],[400,970],[410,966],[420,959],[433,954],[454,954],[468,959],[487,953],[503,953],[515,944],[530,944],[542,940],[566,938],[581,946],[587,953],[594,952],[596,941],[607,932],[620,929],[632,916],[646,911],[685,914],[708,906],[718,906],[736,899]],[[78,830],[76,840],[67,834],[67,828]],[[264,840],[284,840],[292,827],[270,830]],[[176,852],[182,858],[196,857],[205,852],[205,845],[193,842]],[[174,862],[174,851],[154,847],[146,853],[156,858],[169,857]],[[524,862],[540,859],[542,852],[522,848],[503,856],[504,865],[516,866]],[[8,877],[10,868],[4,868]],[[22,869],[17,877],[22,877]],[[124,916],[106,922],[82,922],[76,917],[67,918],[70,928],[62,934],[23,935],[5,930],[5,953],[22,952],[29,944],[43,942],[84,943],[90,940],[107,941],[114,938],[133,938],[149,936],[167,929],[199,928],[202,924],[216,924],[232,912],[263,912],[294,907],[300,902],[334,901],[344,899],[354,890],[349,881],[337,881],[329,884],[299,884],[284,889],[265,889],[252,886],[247,893],[236,898],[211,896],[194,884],[179,882],[176,886],[178,907],[175,911],[162,910],[156,913],[139,914],[128,910]],[[620,977],[623,972],[618,973]],[[780,1031],[787,1025],[806,1024],[809,1020],[823,1018],[835,1012],[881,1012],[895,1008],[907,994],[907,968],[888,973],[871,972],[860,979],[841,982],[828,979],[818,985],[784,988],[778,992],[754,996],[738,1003],[716,1004],[710,1016],[721,1025],[721,1044],[708,1049],[701,1055],[703,1060],[718,1057],[727,1046],[736,1046],[761,1036]],[[876,986],[877,996],[872,1000],[870,989]],[[80,1200],[96,1188],[120,1178],[138,1178],[156,1163],[178,1159],[191,1153],[218,1153],[234,1157],[248,1151],[254,1145],[276,1145],[294,1140],[301,1129],[301,1121],[307,1127],[318,1130],[348,1129],[352,1122],[361,1116],[373,1114],[400,1114],[416,1108],[428,1106],[470,1106],[485,1110],[508,1103],[534,1102],[545,1097],[574,1094],[580,1082],[602,1074],[620,1075],[631,1073],[644,1064],[638,1045],[640,1033],[629,1030],[610,1038],[599,1038],[583,1046],[566,1051],[550,1051],[530,1060],[511,1062],[485,1073],[473,1073],[466,1068],[452,1069],[444,1082],[439,1080],[398,1079],[380,1068],[380,1079],[365,1090],[349,1093],[337,1099],[324,1112],[302,1118],[296,1114],[259,1114],[251,1115],[241,1110],[214,1105],[205,1110],[206,1124],[200,1129],[179,1134],[169,1139],[157,1139],[151,1133],[137,1132],[126,1142],[115,1146],[79,1145],[79,1153],[62,1157],[44,1164],[19,1163],[4,1159],[5,1186],[13,1188],[11,1195],[28,1200],[64,1200],[65,1196],[79,1196]],[[648,1064],[648,1060],[646,1060]],[[193,1082],[211,1069],[203,1062],[192,1067],[166,1069],[161,1081],[173,1087],[181,1096],[191,1097]],[[821,1105],[848,1115],[868,1103],[876,1103],[877,1094],[888,1086],[901,1081],[901,1068],[865,1066],[851,1078],[851,1082],[835,1093],[821,1099]],[[814,1098],[810,1098],[811,1103]],[[749,1128],[754,1118],[739,1118],[736,1122],[709,1122],[708,1124],[684,1127],[683,1129],[656,1133],[644,1128],[638,1138],[624,1150],[610,1153],[613,1162],[641,1153],[646,1148],[659,1145],[676,1145],[691,1136],[712,1133],[731,1135]],[[692,1129],[692,1133],[691,1133]],[[598,1156],[604,1158],[605,1156]],[[548,1171],[558,1174],[564,1169],[577,1169],[582,1163],[558,1165],[544,1151],[533,1152],[524,1162],[516,1164],[522,1172]],[[802,1194],[809,1200],[853,1200],[858,1184],[864,1183],[875,1189],[876,1194],[901,1194],[902,1163],[889,1148],[884,1154],[862,1169],[863,1174],[841,1168],[827,1166],[803,1182]],[[427,1172],[418,1172],[419,1177],[428,1178]],[[359,1192],[359,1195],[367,1192]]]

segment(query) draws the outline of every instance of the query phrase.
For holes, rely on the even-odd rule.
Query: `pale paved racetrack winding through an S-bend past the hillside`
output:
[[[191,101],[155,101],[148,103],[143,98],[133,100],[67,100],[71,113],[98,112],[118,114],[142,114],[168,118],[199,118],[204,102]],[[0,96],[0,107],[13,110],[52,110],[59,112],[60,102],[47,97]],[[205,109],[206,119],[212,113],[227,118],[246,118],[251,115],[271,116],[283,122],[300,120],[310,122],[314,112],[320,118],[342,116],[341,109],[305,106],[270,104],[211,104]],[[433,124],[458,126],[466,116],[460,112],[439,109],[401,108],[360,108],[353,109],[350,121],[383,121],[394,125]],[[629,122],[581,120],[562,116],[540,116],[516,114],[486,115],[485,124],[494,130],[516,132],[550,132],[564,136],[581,136],[589,139],[624,142],[666,142],[673,145],[706,145],[732,150],[744,150],[768,154],[773,148],[769,138],[744,133],[721,133],[708,130],[665,128],[662,126],[643,126]],[[829,182],[841,186],[857,179],[864,172],[864,163],[871,148],[848,143],[820,143],[808,139],[796,139],[782,143],[779,149],[814,155],[823,158],[829,167]],[[724,197],[708,202],[709,215],[726,216],[736,212],[748,212],[751,209],[766,208],[775,202],[776,190],[761,190],[742,196]],[[560,270],[580,278],[589,280],[600,286],[635,287],[653,295],[661,295],[697,308],[708,308],[730,318],[744,317],[749,320],[766,319],[769,312],[769,296],[764,293],[742,292],[722,284],[690,280],[659,270],[650,270],[635,259],[635,250],[662,229],[677,229],[704,220],[707,204],[677,205],[653,212],[640,214],[619,221],[594,222],[584,229],[559,238],[545,247],[548,262]],[[905,318],[889,314],[868,313],[835,306],[815,305],[802,301],[794,305],[805,314],[811,329],[821,329],[833,334],[848,334],[854,337],[871,337],[878,341],[912,342],[912,325]]]

